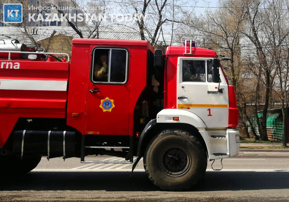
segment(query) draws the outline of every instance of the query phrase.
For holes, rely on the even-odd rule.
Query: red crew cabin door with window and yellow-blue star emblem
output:
[[[128,135],[130,49],[91,47],[86,134]]]

